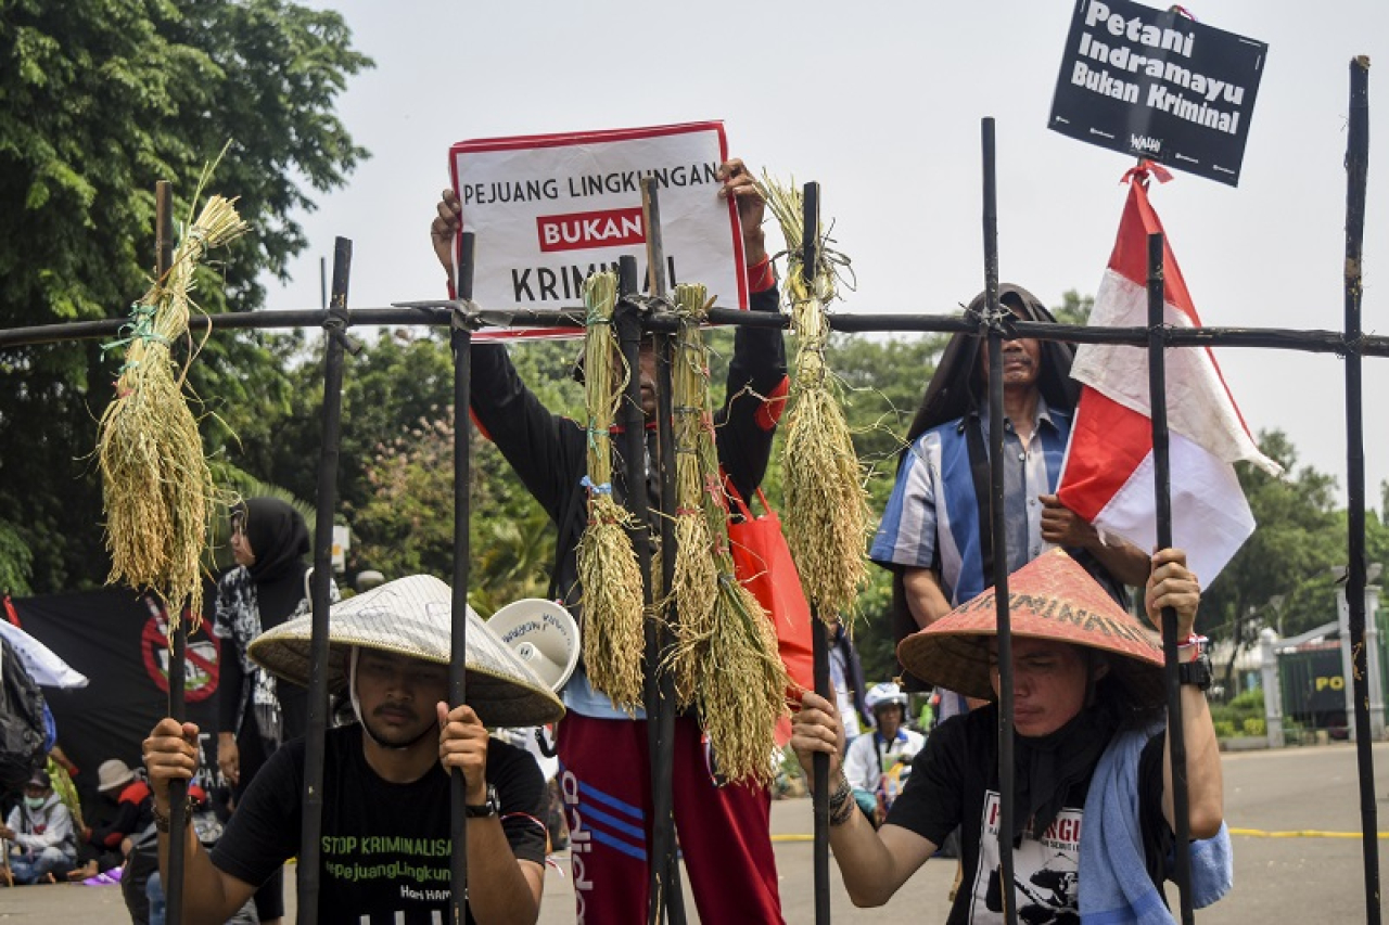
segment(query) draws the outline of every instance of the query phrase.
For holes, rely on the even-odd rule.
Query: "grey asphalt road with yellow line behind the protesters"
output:
[[[1376,744],[1376,828],[1389,831],[1389,743]],[[1281,751],[1228,754],[1225,769],[1225,821],[1233,832],[1235,889],[1199,922],[1364,922],[1365,878],[1361,850],[1361,810],[1356,751],[1338,743]],[[789,925],[814,922],[810,801],[772,804],[772,835],[781,874],[782,904]],[[1379,878],[1389,875],[1381,838]],[[574,921],[574,893],[568,861],[563,872],[546,878],[542,925]],[[926,864],[883,908],[856,910],[849,903],[839,874],[831,862],[831,911],[836,925],[874,922],[943,922],[946,892],[954,879],[951,861]],[[1175,888],[1168,897],[1176,901]],[[290,904],[293,904],[293,897]],[[690,922],[697,915],[690,903]],[[88,925],[128,922],[115,888],[28,886],[0,889],[0,922]],[[608,925],[608,924],[603,924]],[[715,924],[710,924],[715,925]],[[728,924],[717,924],[728,925]]]

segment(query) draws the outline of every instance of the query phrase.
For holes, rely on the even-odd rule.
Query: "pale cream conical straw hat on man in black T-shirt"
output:
[[[328,686],[347,686],[353,647],[449,664],[453,592],[432,575],[397,578],[333,604]],[[271,674],[308,685],[313,617],[261,633],[250,657]],[[564,715],[560,699],[468,608],[467,703],[488,726],[539,726]]]

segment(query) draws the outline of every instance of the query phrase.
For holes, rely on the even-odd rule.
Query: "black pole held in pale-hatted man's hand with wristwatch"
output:
[[[472,299],[474,233],[463,232],[458,251],[458,299]],[[453,347],[453,599],[449,644],[449,704],[468,703],[468,583],[471,581],[472,550],[468,544],[471,510],[468,486],[472,483],[472,331],[457,310],[449,328]],[[454,925],[467,921],[468,906],[468,817],[467,782],[461,774],[449,775],[449,838],[453,857],[449,858],[449,911]]]

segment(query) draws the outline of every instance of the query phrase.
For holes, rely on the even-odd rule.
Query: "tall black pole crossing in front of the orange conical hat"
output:
[[[993,536],[995,619],[999,625],[999,867],[1003,914],[1018,921],[1013,883],[1013,614],[1008,611],[1008,533],[1003,506],[1003,304],[999,301],[999,188],[993,119],[979,124],[983,147],[983,292],[989,321],[989,526]],[[983,524],[979,529],[985,529]]]

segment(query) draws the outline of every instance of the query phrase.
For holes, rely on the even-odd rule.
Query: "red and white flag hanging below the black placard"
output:
[[[1167,179],[1161,168],[1151,169]],[[1149,203],[1146,174],[1139,168],[1125,176],[1128,203],[1095,296],[1095,326],[1147,326],[1147,236],[1161,232],[1163,222]],[[1165,236],[1163,262],[1165,324],[1200,326]],[[1258,451],[1210,349],[1171,349],[1165,362],[1172,542],[1186,550],[1188,565],[1201,585],[1210,586],[1254,532],[1232,464],[1245,460],[1271,475],[1282,467]],[[1082,344],[1071,375],[1083,388],[1057,494],[1101,533],[1151,550],[1157,544],[1157,503],[1147,349]]]

